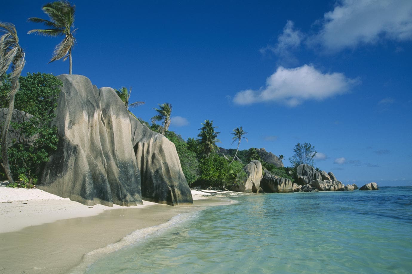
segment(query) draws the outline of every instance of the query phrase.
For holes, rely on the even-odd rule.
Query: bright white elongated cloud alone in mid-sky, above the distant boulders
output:
[[[337,94],[343,94],[356,79],[346,78],[343,73],[325,73],[312,65],[303,65],[294,69],[278,67],[276,72],[266,79],[266,86],[260,90],[238,92],[233,101],[239,105],[276,101],[288,106],[297,106],[305,100],[321,101]]]

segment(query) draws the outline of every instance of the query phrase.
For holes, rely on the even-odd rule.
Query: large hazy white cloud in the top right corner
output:
[[[342,0],[323,19],[321,31],[308,43],[330,51],[381,39],[412,39],[411,0]]]

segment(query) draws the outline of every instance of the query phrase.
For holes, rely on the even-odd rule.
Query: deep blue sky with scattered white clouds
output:
[[[62,38],[43,28],[47,1],[2,3],[27,72],[68,73],[49,62]],[[132,86],[131,111],[149,121],[173,106],[170,129],[196,137],[213,120],[220,144],[318,151],[316,167],[344,184],[412,185],[412,1],[77,1],[73,74],[97,87]]]

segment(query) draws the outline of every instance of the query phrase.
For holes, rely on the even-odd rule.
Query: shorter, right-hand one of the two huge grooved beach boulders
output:
[[[167,205],[192,204],[192,193],[175,145],[131,115],[130,122],[135,159],[141,172],[142,197]]]

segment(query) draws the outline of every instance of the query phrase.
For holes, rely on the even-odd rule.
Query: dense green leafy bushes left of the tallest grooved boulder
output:
[[[8,155],[12,174],[19,176],[21,186],[25,187],[37,182],[36,168],[48,161],[49,155],[57,149],[57,128],[50,127],[50,123],[56,116],[53,111],[57,107],[59,86],[63,83],[52,74],[42,73],[28,73],[19,81],[15,109],[33,117],[21,115],[18,122],[10,123],[15,138]]]

